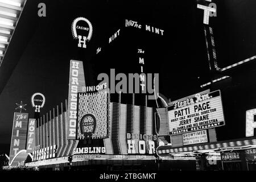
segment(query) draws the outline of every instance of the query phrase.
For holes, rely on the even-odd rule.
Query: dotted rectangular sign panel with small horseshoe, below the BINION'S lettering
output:
[[[77,139],[108,137],[109,89],[79,93]]]

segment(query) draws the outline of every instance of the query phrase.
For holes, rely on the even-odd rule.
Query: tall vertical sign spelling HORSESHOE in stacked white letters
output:
[[[76,139],[77,93],[85,87],[82,61],[71,60],[69,74],[67,139]]]

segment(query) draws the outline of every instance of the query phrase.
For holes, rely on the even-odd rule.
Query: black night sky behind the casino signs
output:
[[[203,10],[196,9],[196,0],[122,3],[79,0],[40,2],[46,3],[47,16],[39,18],[37,14],[31,14],[31,18],[37,22],[35,32],[28,40],[13,74],[0,95],[0,152],[9,154],[16,102],[23,101],[27,104],[26,109],[30,117],[33,117],[33,93],[40,92],[46,96],[42,114],[68,98],[71,59],[84,61],[86,85],[93,85],[96,84],[97,74],[109,73],[110,68],[115,68],[118,72],[138,72],[136,51],[142,47],[146,51],[144,57],[147,72],[159,73],[160,92],[172,100],[202,91],[200,85],[209,81],[203,34]],[[220,67],[256,55],[256,2],[213,2],[217,4],[217,17],[210,18],[210,24],[214,28]],[[30,8],[38,9],[37,6]],[[72,38],[71,24],[79,16],[89,19],[93,25],[93,36],[86,49],[77,48],[77,42]],[[164,30],[164,36],[145,30],[137,31],[133,27],[125,28],[125,19],[161,28]],[[35,25],[31,24],[32,26]],[[119,28],[122,28],[120,37],[114,40],[113,44],[108,44],[109,37]],[[19,42],[19,39],[12,40],[13,44],[15,42]],[[98,47],[102,47],[102,52],[96,55]],[[15,50],[13,53],[15,54]],[[250,102],[251,98],[255,98],[255,82],[245,84],[243,81],[246,77],[255,76],[255,69],[251,69],[251,75],[245,71],[232,72],[232,81],[212,88],[224,92],[222,97],[225,102],[227,125],[220,131],[225,133],[226,129],[231,128],[234,134],[237,134],[231,138],[245,137],[240,130],[243,130],[245,125],[243,114],[246,109],[253,109],[251,107],[255,106]],[[251,88],[251,94],[247,94],[243,100],[243,92],[248,86]],[[230,95],[235,98],[230,98]],[[238,105],[243,105],[242,109],[237,109]],[[241,120],[236,121],[240,125],[232,123],[234,111],[240,112],[240,116],[236,117]],[[229,139],[221,135],[220,138]]]

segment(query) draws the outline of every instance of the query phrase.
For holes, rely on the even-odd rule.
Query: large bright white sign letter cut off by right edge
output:
[[[256,109],[246,111],[246,137],[254,136],[256,128]]]

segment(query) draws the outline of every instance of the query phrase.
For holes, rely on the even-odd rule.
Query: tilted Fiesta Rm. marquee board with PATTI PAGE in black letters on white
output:
[[[171,135],[225,125],[220,90],[175,101],[167,111]]]

